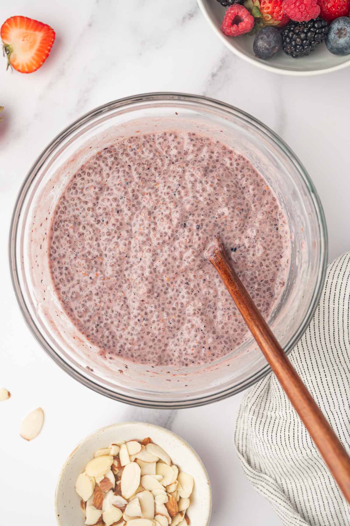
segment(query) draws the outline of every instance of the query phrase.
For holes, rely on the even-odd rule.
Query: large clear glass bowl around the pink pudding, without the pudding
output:
[[[312,319],[327,263],[327,229],[312,181],[273,131],[241,110],[194,95],[153,93],[94,109],[62,131],[37,158],[17,198],[9,238],[12,281],[34,337],[69,375],[95,391],[136,406],[183,408],[234,395],[269,367],[252,338],[224,358],[193,367],[102,360],[55,295],[46,254],[51,217],[69,177],[98,149],[121,136],[177,129],[219,139],[249,159],[281,204],[291,231],[291,264],[271,316],[289,352]]]

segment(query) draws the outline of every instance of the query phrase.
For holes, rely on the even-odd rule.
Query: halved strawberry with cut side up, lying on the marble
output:
[[[55,41],[52,27],[26,16],[11,16],[0,29],[7,68],[33,73],[42,66]]]

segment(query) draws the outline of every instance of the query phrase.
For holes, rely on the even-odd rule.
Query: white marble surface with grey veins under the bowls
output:
[[[195,0],[13,0],[3,3],[0,14],[0,23],[21,14],[52,25],[57,34],[49,59],[32,75],[6,73],[5,60],[0,61],[0,104],[5,106],[0,126],[0,387],[12,391],[0,408],[0,524],[54,524],[54,490],[63,461],[88,432],[123,420],[161,424],[198,451],[213,485],[212,526],[281,524],[249,486],[233,449],[243,395],[198,409],[154,411],[125,406],[79,385],[29,334],[12,291],[5,247],[19,186],[49,140],[100,104],[168,90],[222,99],[283,137],[321,196],[333,259],[350,247],[350,70],[311,78],[264,73],[216,39]],[[19,422],[37,406],[45,411],[45,426],[27,443],[19,438]]]

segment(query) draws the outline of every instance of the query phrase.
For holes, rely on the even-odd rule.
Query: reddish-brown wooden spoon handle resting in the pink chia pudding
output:
[[[350,458],[341,441],[286,357],[284,350],[255,306],[242,281],[238,278],[219,238],[212,246],[208,247],[206,257],[223,280],[271,369],[304,422],[329,471],[331,471],[344,497],[350,504]]]

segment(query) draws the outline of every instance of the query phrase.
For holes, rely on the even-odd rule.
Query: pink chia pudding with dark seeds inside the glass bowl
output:
[[[209,363],[248,336],[204,252],[216,234],[267,319],[287,277],[287,220],[234,150],[194,133],[102,148],[69,181],[51,225],[54,289],[101,356]]]

